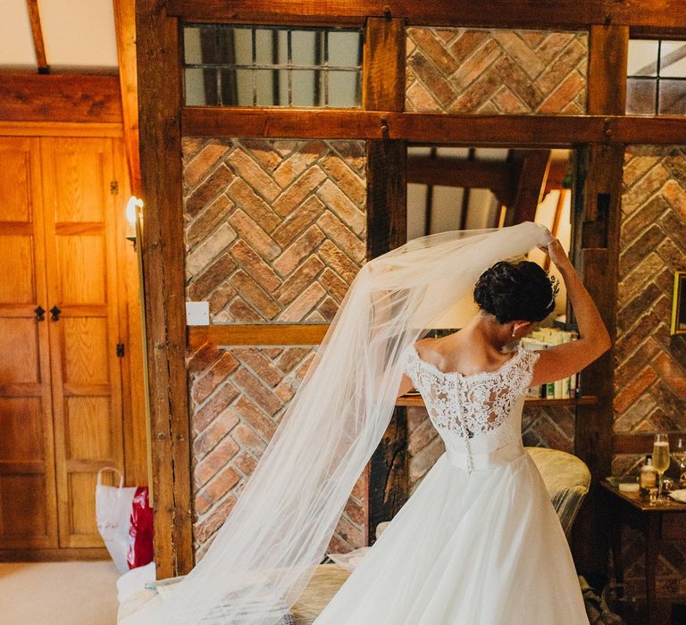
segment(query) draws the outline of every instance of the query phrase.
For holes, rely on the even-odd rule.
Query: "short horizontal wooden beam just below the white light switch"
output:
[[[215,346],[319,345],[328,329],[324,323],[192,326],[188,328],[188,347],[194,349],[205,343]]]

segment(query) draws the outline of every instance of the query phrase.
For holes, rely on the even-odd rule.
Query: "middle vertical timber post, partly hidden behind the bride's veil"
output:
[[[369,18],[364,41],[363,108],[402,111],[405,102],[405,24]],[[388,126],[381,129],[382,136]],[[367,258],[406,242],[407,146],[405,141],[367,142]],[[368,536],[389,521],[408,495],[407,416],[397,408],[369,466]]]

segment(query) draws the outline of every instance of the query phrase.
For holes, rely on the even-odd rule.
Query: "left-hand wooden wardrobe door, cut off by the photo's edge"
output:
[[[57,546],[39,142],[0,137],[0,548]],[[39,309],[39,310],[40,310]]]

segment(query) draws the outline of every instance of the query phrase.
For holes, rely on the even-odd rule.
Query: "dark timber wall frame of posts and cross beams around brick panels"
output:
[[[180,138],[283,137],[367,140],[368,255],[404,242],[406,142],[579,149],[576,264],[607,321],[615,329],[619,254],[619,202],[623,146],[686,143],[686,118],[624,115],[625,66],[630,31],[686,35],[681,0],[140,0],[137,4],[138,88],[146,223],[142,250],[146,287],[148,368],[151,380],[151,453],[155,493],[155,553],[160,577],[193,563],[190,511],[188,389],[184,351],[183,206]],[[362,110],[220,109],[183,107],[180,101],[180,21],[254,24],[359,25],[366,29]],[[406,25],[581,29],[590,32],[588,115],[473,116],[402,112]],[[373,52],[373,54],[371,54]],[[393,175],[389,175],[389,172]],[[608,287],[610,285],[610,287]],[[245,328],[244,328],[245,330]],[[228,331],[228,330],[227,330]],[[240,332],[239,329],[230,330]],[[251,330],[252,331],[252,330]],[[318,336],[306,326],[294,330]],[[259,336],[255,344],[271,339]],[[212,334],[212,332],[210,332]],[[246,336],[243,334],[243,336]],[[195,337],[197,339],[197,336]],[[280,339],[281,342],[283,338]],[[576,450],[594,479],[607,475],[613,452],[612,354],[592,366],[584,392],[597,404],[580,407]],[[405,436],[396,415],[372,460],[381,502],[401,503]],[[623,446],[626,446],[623,441]],[[381,454],[381,455],[379,455]],[[376,462],[376,464],[375,464]],[[377,467],[376,469],[374,467]],[[384,473],[385,471],[385,473]],[[385,477],[384,477],[385,476]],[[394,490],[395,489],[395,490]],[[381,491],[378,491],[381,492]],[[389,496],[390,493],[390,496]],[[600,502],[591,494],[580,518],[575,555],[582,571],[605,571]],[[374,519],[370,519],[373,526]],[[593,527],[593,531],[589,529]]]

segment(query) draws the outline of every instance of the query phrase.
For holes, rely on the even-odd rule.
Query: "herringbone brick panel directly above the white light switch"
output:
[[[212,323],[330,321],[364,262],[364,143],[182,148],[188,299]]]

